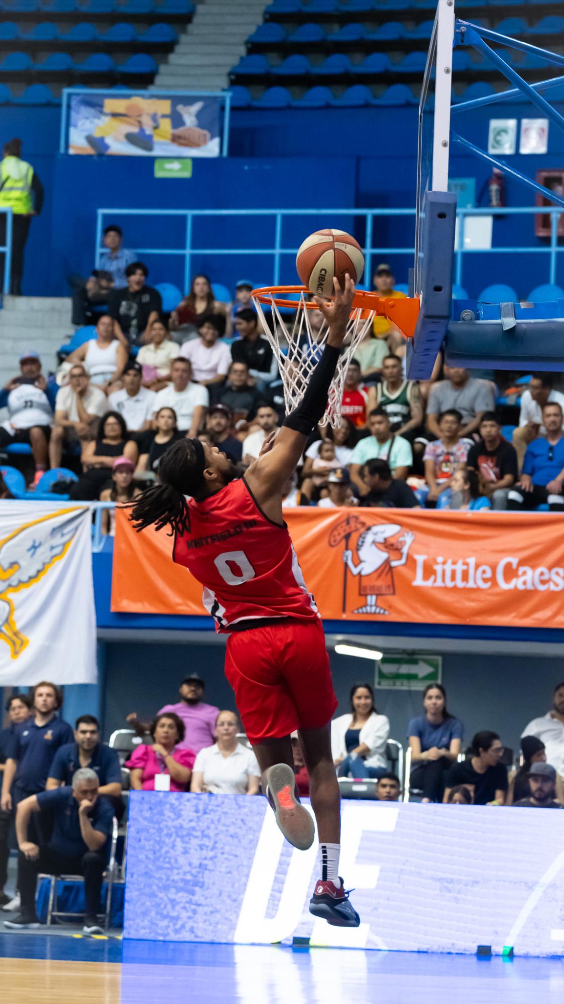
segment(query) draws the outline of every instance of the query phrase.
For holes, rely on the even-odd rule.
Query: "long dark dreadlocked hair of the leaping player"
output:
[[[130,503],[131,520],[137,533],[148,526],[162,530],[171,527],[169,536],[190,533],[190,510],[185,495],[195,495],[202,486],[202,465],[192,440],[175,443],[159,464],[159,484]]]

